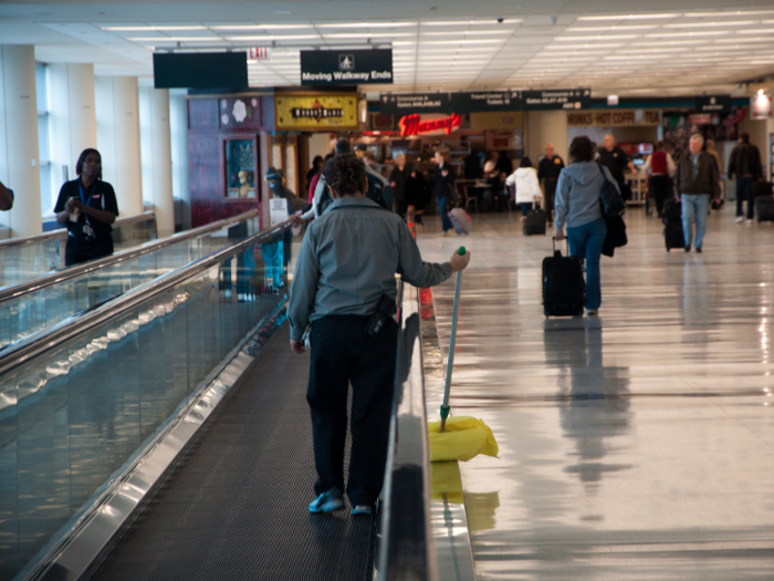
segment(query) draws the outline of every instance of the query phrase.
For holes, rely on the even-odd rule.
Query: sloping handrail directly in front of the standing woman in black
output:
[[[84,262],[82,264],[76,264],[70,268],[65,268],[62,270],[54,270],[49,274],[42,274],[38,278],[31,279],[27,282],[22,282],[21,284],[14,284],[12,287],[9,287],[8,289],[0,291],[0,303],[3,301],[7,301],[9,299],[14,299],[17,297],[21,297],[24,293],[28,293],[30,291],[35,291],[39,289],[43,289],[45,287],[50,287],[52,284],[59,284],[60,282],[63,282],[65,280],[71,280],[74,279],[75,277],[80,277],[81,274],[87,273],[87,272],[93,272],[95,270],[100,270],[113,264],[117,264],[118,262],[124,262],[126,260],[132,260],[134,258],[148,255],[150,252],[155,252],[156,250],[159,250],[161,248],[166,248],[168,246],[176,245],[178,242],[185,242],[186,240],[191,240],[194,238],[198,238],[200,236],[203,236],[209,232],[216,232],[218,230],[222,230],[223,228],[228,226],[232,226],[234,224],[239,224],[241,221],[248,220],[250,218],[258,217],[258,210],[249,210],[242,214],[239,214],[232,218],[226,218],[223,220],[218,220],[217,222],[208,224],[206,226],[200,226],[198,228],[194,228],[192,230],[186,230],[185,232],[178,232],[176,235],[172,235],[168,238],[163,238],[160,240],[154,240],[151,242],[145,242],[144,245],[133,247],[133,248],[127,248],[126,250],[122,250],[119,252],[115,252],[108,257],[105,258],[100,258],[97,260],[92,260],[90,262]],[[130,219],[130,218],[127,218]],[[45,235],[43,235],[45,236]],[[12,240],[11,240],[12,241]]]

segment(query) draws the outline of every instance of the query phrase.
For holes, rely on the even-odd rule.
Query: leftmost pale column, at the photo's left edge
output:
[[[13,238],[43,231],[38,155],[34,46],[0,46],[0,180],[15,195],[0,222]]]

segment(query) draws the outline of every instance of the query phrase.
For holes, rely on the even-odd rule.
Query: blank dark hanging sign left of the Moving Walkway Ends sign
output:
[[[243,89],[247,52],[154,53],[156,89]]]

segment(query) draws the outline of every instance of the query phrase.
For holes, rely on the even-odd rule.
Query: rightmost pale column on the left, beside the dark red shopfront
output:
[[[154,205],[156,230],[165,238],[175,234],[168,90],[139,89],[139,133],[143,196]]]

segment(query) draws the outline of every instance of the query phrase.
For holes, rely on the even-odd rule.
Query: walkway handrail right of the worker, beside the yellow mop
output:
[[[419,289],[402,283],[378,580],[436,581]]]

